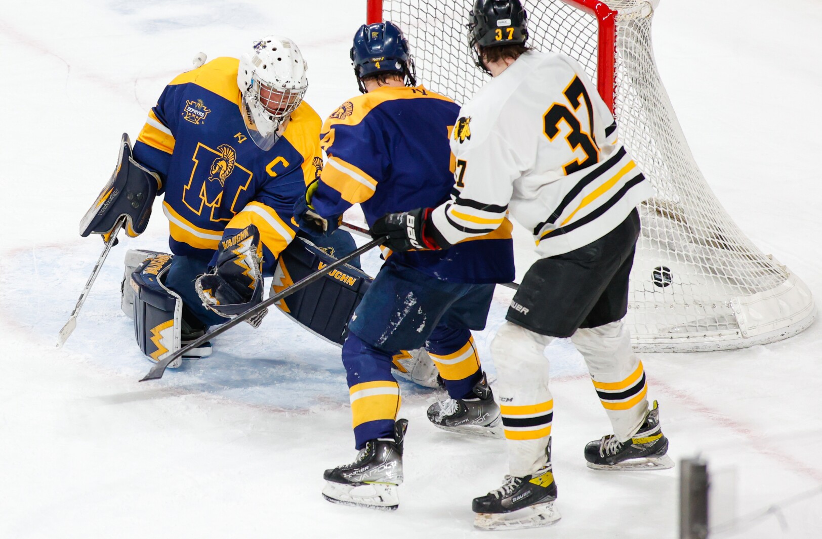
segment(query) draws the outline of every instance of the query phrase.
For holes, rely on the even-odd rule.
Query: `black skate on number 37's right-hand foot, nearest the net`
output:
[[[596,470],[664,470],[673,468],[667,445],[659,426],[659,407],[653,401],[653,408],[630,440],[620,442],[612,434],[593,440],[585,446],[585,460],[588,468]]]

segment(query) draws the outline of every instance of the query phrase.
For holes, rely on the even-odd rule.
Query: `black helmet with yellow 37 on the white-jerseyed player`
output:
[[[488,71],[476,46],[524,45],[528,39],[527,14],[520,0],[475,0],[468,16],[469,46],[477,67]]]

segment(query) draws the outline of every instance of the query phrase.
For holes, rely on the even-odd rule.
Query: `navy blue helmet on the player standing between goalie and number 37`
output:
[[[354,35],[351,62],[359,89],[365,93],[363,76],[393,73],[404,77],[405,85],[417,85],[417,73],[403,31],[393,22],[362,25]]]

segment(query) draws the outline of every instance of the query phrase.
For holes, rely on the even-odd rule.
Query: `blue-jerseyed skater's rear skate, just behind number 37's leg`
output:
[[[428,408],[428,421],[445,431],[502,438],[500,407],[488,387],[485,373],[473,386],[476,398],[449,398]]]

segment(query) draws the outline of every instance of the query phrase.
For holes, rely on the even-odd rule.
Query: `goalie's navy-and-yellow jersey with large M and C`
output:
[[[223,237],[249,224],[261,233],[263,270],[293,240],[293,205],[322,168],[321,120],[303,102],[269,151],[247,137],[238,60],[216,58],[165,87],[134,145],[163,181],[169,246],[210,259]]]

